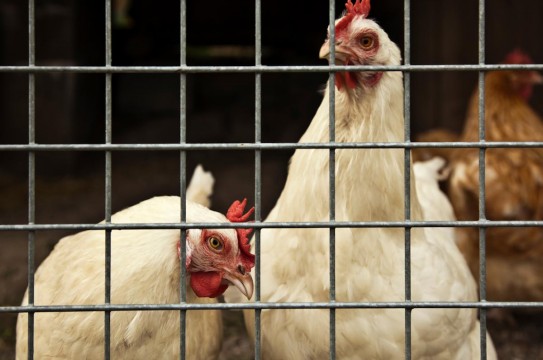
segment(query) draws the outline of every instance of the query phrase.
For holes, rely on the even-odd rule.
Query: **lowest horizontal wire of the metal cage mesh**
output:
[[[0,306],[0,313],[139,311],[139,310],[242,310],[242,309],[445,309],[445,308],[543,308],[543,302],[398,301],[398,302],[259,302],[215,304],[100,304]]]

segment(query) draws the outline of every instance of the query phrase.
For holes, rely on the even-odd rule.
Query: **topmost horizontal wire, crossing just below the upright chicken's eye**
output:
[[[485,64],[485,65],[298,65],[298,66],[0,66],[0,73],[293,73],[336,71],[491,71],[543,70],[543,64]]]

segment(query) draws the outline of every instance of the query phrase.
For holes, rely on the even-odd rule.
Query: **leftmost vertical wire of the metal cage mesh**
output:
[[[28,66],[35,65],[34,0],[28,0]],[[28,144],[35,144],[35,77],[28,74]],[[36,221],[36,154],[28,152],[28,224]],[[28,232],[28,305],[34,305],[34,250],[36,232]],[[28,359],[34,358],[34,313],[28,313]]]

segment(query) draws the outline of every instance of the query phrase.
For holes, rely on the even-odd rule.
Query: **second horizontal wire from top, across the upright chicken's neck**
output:
[[[349,143],[193,143],[193,144],[1,144],[0,151],[179,151],[294,149],[539,148],[543,141],[349,142]]]

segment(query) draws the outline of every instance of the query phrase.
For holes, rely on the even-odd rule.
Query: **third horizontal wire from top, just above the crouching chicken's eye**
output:
[[[0,224],[0,231],[45,230],[143,230],[143,229],[279,229],[279,228],[406,228],[406,227],[543,227],[542,220],[474,220],[474,221],[320,221],[266,223],[110,223],[110,224]]]

